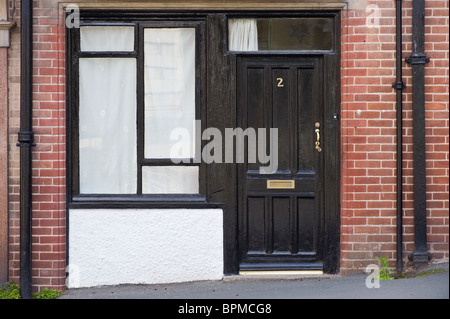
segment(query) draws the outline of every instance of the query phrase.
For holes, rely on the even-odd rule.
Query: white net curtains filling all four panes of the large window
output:
[[[134,27],[85,26],[82,51],[133,51]],[[144,73],[144,157],[194,155],[195,29],[144,29],[144,70],[136,58],[79,59],[79,175],[82,194],[137,192],[137,74]],[[172,140],[183,129],[189,136]],[[179,143],[186,145],[180,147]],[[198,193],[195,166],[144,166],[144,194]]]

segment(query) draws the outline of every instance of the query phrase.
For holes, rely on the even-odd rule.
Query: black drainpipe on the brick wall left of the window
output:
[[[20,294],[30,299],[33,1],[22,0],[20,6]]]

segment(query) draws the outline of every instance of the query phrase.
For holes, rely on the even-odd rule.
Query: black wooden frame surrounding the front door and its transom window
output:
[[[238,17],[332,17],[334,19],[333,49],[330,51],[259,51],[233,52],[228,49],[228,19]],[[324,123],[329,129],[322,137],[329,141],[328,154],[324,158],[326,174],[329,176],[324,194],[324,214],[329,220],[323,242],[324,273],[336,274],[340,264],[340,37],[341,11],[265,11],[265,12],[214,12],[207,15],[207,127],[237,128],[237,57],[240,55],[323,55],[324,59]],[[223,257],[224,275],[239,273],[238,258],[238,165],[235,163],[211,163],[208,166],[207,200],[218,203],[223,209]]]

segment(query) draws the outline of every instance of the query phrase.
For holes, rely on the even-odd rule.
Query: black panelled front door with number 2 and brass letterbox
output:
[[[238,126],[268,143],[278,129],[276,171],[239,164],[240,271],[323,270],[323,69],[323,56],[238,57]]]

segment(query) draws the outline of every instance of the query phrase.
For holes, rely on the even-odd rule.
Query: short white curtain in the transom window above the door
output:
[[[228,32],[231,51],[258,51],[256,19],[230,19]]]

